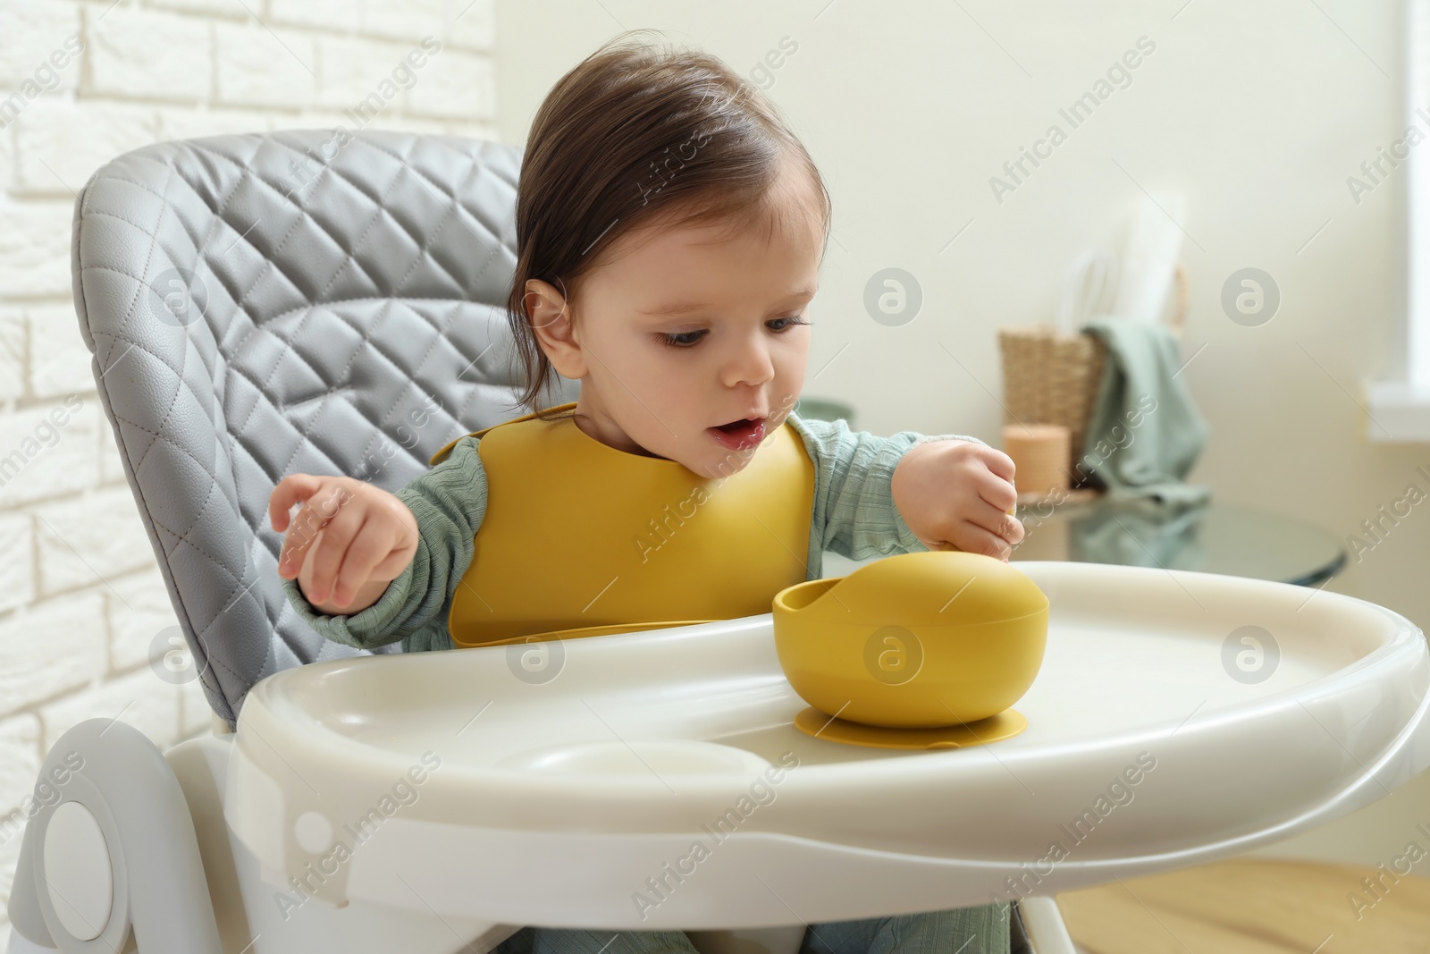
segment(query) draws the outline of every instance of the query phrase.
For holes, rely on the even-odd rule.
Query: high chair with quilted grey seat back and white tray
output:
[[[519,159],[279,132],[84,186],[80,328],[214,728],[167,752],[122,719],[60,737],[11,954],[480,954],[525,924],[792,954],[807,924],[994,900],[1015,950],[1071,954],[1057,891],[1237,855],[1430,767],[1414,625],[1208,574],[1020,564],[1051,601],[1028,728],[954,749],[798,731],[769,614],[450,652],[317,636],[269,493],[297,471],[396,489],[515,416]]]

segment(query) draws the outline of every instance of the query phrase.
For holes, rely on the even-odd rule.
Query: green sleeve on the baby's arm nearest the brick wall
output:
[[[297,579],[285,579],[289,604],[326,639],[375,649],[403,639],[405,652],[450,649],[448,612],[458,584],[472,565],[473,541],[486,513],[486,472],[476,452],[480,439],[462,438],[426,473],[396,496],[418,521],[418,552],[373,605],[355,614],[326,615],[303,596]]]

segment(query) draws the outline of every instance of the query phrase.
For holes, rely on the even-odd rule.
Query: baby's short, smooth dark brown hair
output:
[[[616,36],[561,77],[526,139],[506,318],[525,378],[521,406],[532,410],[556,369],[526,312],[528,279],[569,303],[602,255],[656,216],[671,227],[724,220],[729,235],[764,227],[768,240],[782,225],[772,187],[785,156],[809,176],[828,246],[829,193],[775,104],[719,57],[661,49],[642,33]]]

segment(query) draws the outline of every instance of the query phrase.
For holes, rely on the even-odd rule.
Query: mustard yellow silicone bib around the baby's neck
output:
[[[456,646],[766,614],[807,578],[814,462],[788,421],[722,478],[618,451],[571,416],[472,433],[488,498],[448,616]]]

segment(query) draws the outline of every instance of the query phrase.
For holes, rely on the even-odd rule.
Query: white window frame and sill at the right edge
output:
[[[1403,16],[1401,113],[1407,126],[1421,127],[1414,110],[1430,110],[1430,0],[1404,0]],[[1430,442],[1430,149],[1410,150],[1406,174],[1404,366],[1391,380],[1366,385],[1373,418],[1366,433],[1380,442]]]

